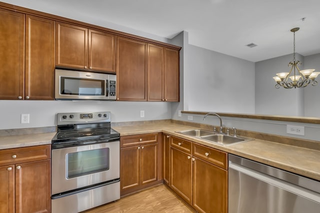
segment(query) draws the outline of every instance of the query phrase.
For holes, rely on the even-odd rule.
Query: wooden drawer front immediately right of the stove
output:
[[[158,133],[142,134],[142,135],[129,135],[120,137],[120,146],[132,147],[145,144],[154,144],[158,141]]]

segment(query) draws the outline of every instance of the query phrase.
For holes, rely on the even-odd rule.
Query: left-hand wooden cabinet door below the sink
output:
[[[171,148],[171,188],[183,200],[191,205],[192,160],[191,156]]]

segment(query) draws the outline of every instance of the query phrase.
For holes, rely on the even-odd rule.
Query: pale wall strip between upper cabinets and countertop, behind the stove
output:
[[[144,110],[144,118],[140,118]],[[110,111],[111,122],[171,119],[171,103],[129,101],[0,101],[0,129],[56,126],[56,113]],[[30,115],[21,124],[21,114]]]

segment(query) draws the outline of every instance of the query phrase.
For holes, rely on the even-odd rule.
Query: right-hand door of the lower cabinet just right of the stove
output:
[[[157,144],[141,146],[141,185],[157,181]]]

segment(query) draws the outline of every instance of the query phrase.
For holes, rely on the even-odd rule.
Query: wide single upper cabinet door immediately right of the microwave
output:
[[[146,100],[146,43],[117,37],[117,100]]]

